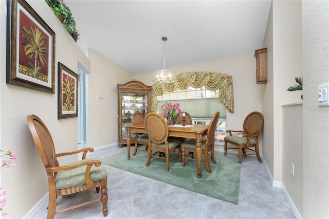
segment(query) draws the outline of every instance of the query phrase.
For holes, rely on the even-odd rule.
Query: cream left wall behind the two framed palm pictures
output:
[[[27,1],[56,33],[56,94],[6,84],[6,8],[0,1],[0,147],[12,150],[17,166],[1,170],[1,187],[7,189],[4,211],[7,218],[22,218],[48,192],[48,180],[38,151],[29,131],[26,116],[35,114],[47,125],[57,152],[77,149],[77,118],[57,119],[58,62],[77,72],[78,61],[89,68],[89,61],[76,42],[53,14],[45,1]],[[74,55],[72,55],[74,54]],[[62,163],[77,160],[77,156]]]

